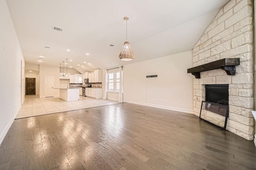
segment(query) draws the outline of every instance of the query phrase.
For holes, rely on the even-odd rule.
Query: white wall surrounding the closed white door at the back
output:
[[[44,78],[45,76],[54,76],[54,88],[60,88],[60,67],[59,66],[46,66],[46,65],[40,65],[40,72],[39,72],[39,79],[40,79],[40,98],[45,97],[45,91],[44,91]],[[54,97],[60,96],[60,90],[54,89],[53,91]]]

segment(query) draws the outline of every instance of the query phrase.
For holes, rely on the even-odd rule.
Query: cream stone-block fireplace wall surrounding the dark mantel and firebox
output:
[[[230,0],[216,15],[193,48],[193,66],[225,58],[239,58],[235,75],[224,70],[200,72],[193,79],[194,114],[206,100],[205,85],[228,84],[229,117],[226,129],[254,139],[254,31],[251,0]]]

